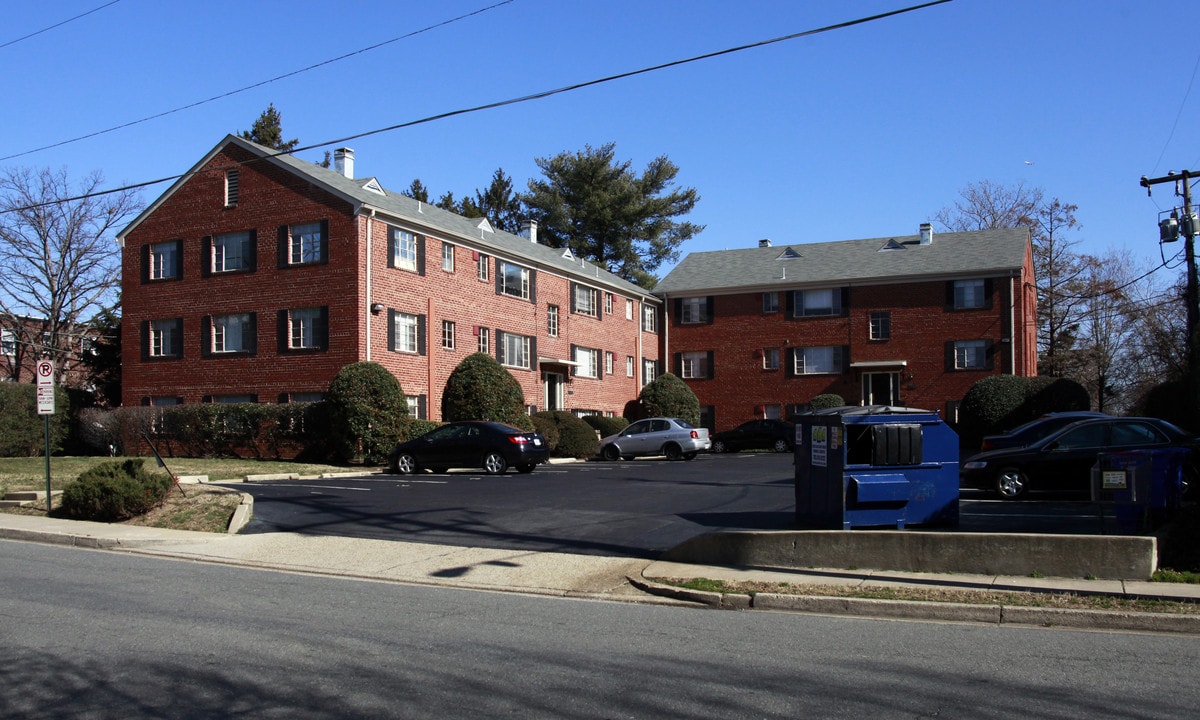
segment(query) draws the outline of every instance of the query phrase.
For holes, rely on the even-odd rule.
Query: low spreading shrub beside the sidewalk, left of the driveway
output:
[[[62,488],[62,512],[73,520],[119,522],[162,504],[170,475],[148,473],[140,458],[103,462]]]

